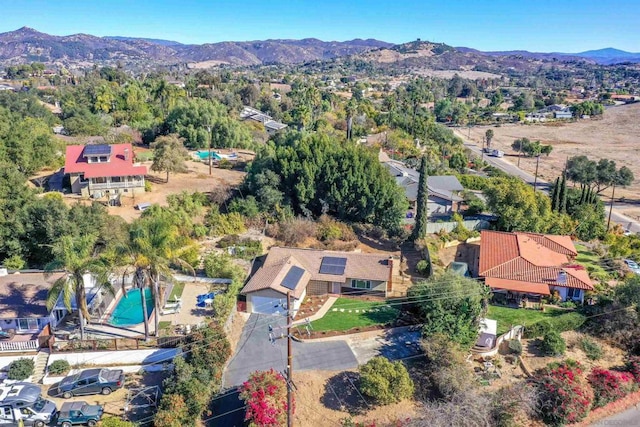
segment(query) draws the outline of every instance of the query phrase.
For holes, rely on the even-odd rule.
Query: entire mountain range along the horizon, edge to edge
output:
[[[416,43],[393,45],[375,39],[354,39],[349,41],[321,41],[307,38],[302,40],[261,40],[244,42],[219,42],[182,44],[171,40],[137,37],[97,37],[89,34],[54,36],[41,33],[29,27],[0,33],[0,62],[16,64],[23,62],[45,63],[204,63],[204,65],[229,64],[239,66],[264,64],[295,64],[309,61],[327,60],[345,56],[361,56],[380,62],[406,60],[411,57]],[[473,65],[474,62],[489,63],[491,58],[500,57],[502,62],[519,60],[581,61],[598,64],[640,63],[640,53],[625,52],[614,48],[591,50],[580,53],[540,53],[528,51],[482,52],[467,47],[452,48],[444,44],[429,44],[428,55],[418,54],[410,58],[427,66],[444,69],[449,64],[456,66]],[[435,49],[435,50],[434,50]],[[376,52],[383,52],[380,55]],[[368,53],[372,55],[367,56]],[[388,53],[392,52],[391,55]],[[422,52],[425,52],[423,49]],[[384,56],[384,58],[383,58]],[[382,58],[382,59],[381,59]],[[442,60],[441,60],[442,59]]]

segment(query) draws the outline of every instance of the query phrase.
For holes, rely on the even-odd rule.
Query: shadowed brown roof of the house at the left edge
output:
[[[41,273],[0,277],[0,318],[47,316],[47,294],[53,282],[60,277],[59,273],[48,279]]]

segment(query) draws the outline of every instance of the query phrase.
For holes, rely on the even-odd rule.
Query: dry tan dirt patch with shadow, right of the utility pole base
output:
[[[342,381],[343,378],[345,381]],[[351,409],[355,422],[375,421],[376,425],[405,420],[416,413],[416,404],[406,400],[393,405],[369,408],[341,372],[294,372],[294,382],[297,387],[296,425],[341,425],[340,420],[350,416],[349,411],[341,410],[342,406]],[[335,394],[326,386],[328,382],[332,384]],[[339,388],[336,389],[336,386]]]

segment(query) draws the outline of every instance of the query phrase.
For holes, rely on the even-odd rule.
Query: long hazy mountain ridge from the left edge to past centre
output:
[[[300,63],[352,55],[391,46],[373,39],[325,42],[317,39],[221,42],[186,45],[169,40],[96,37],[88,34],[52,36],[29,27],[0,34],[0,62],[160,62],[216,61],[231,65]]]

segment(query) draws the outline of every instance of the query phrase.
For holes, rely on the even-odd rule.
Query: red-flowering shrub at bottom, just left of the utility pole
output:
[[[240,387],[240,398],[247,405],[245,421],[256,426],[285,425],[287,419],[287,382],[273,369],[256,371]],[[295,408],[291,408],[292,412]]]

